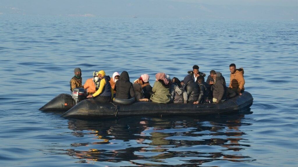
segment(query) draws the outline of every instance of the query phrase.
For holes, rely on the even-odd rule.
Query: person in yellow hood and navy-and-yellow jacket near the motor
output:
[[[109,82],[111,79],[110,76],[105,75],[104,70],[100,70],[98,72],[98,77],[100,79],[98,90],[93,95],[88,95],[87,98],[93,97],[95,101],[99,101],[102,103],[111,102],[113,89],[111,88],[111,84]]]

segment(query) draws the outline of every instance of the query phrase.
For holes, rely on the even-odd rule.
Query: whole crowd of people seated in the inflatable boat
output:
[[[244,70],[236,69],[235,64],[230,64],[230,83],[218,71],[211,70],[205,82],[205,73],[199,71],[198,65],[193,66],[193,71],[188,71],[183,81],[170,78],[165,73],[157,73],[153,87],[149,83],[148,74],[141,75],[134,83],[130,82],[128,72],[113,73],[112,77],[105,71],[94,71],[93,78],[86,80],[82,85],[82,72],[75,68],[75,76],[70,80],[71,91],[80,87],[87,90],[87,98],[102,103],[111,102],[113,97],[118,99],[135,98],[136,101],[150,101],[154,103],[220,103],[244,91]]]

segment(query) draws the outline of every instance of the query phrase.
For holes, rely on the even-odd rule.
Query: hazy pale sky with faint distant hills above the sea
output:
[[[1,14],[294,19],[298,0],[0,0]]]

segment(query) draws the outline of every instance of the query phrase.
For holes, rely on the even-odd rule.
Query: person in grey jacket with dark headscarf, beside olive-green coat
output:
[[[171,101],[173,103],[187,103],[187,92],[185,90],[185,85],[182,86],[181,82],[176,77],[172,79],[170,94]]]

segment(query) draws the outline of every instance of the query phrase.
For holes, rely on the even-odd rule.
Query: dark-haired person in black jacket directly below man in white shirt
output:
[[[193,102],[193,104],[199,104],[199,103],[210,103],[208,97],[210,93],[210,86],[206,82],[204,82],[203,76],[198,76],[197,83],[199,85],[200,94],[198,97],[198,100]]]

